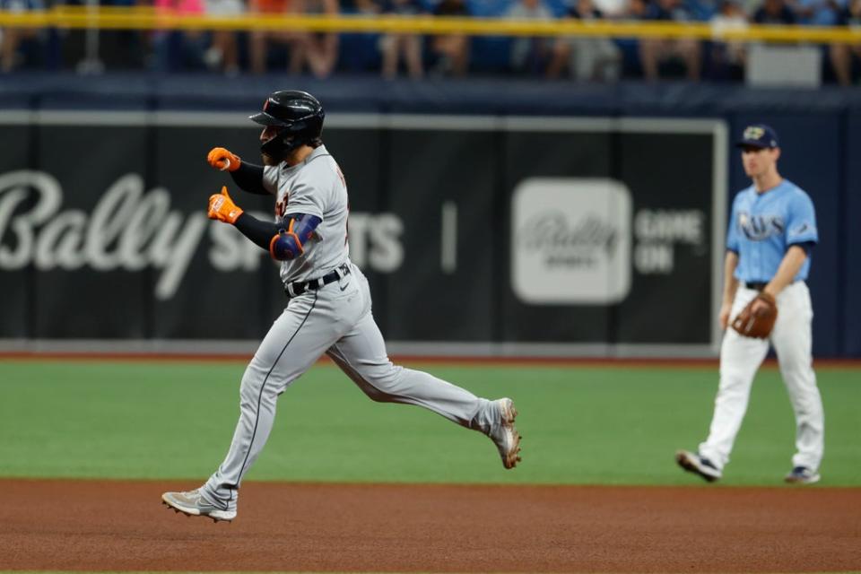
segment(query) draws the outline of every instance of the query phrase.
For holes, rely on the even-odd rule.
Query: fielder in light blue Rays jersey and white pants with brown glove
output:
[[[677,452],[676,461],[709,482],[721,477],[770,341],[796,414],[796,454],[785,480],[816,483],[824,417],[811,355],[813,309],[804,283],[817,241],[813,202],[780,177],[778,135],[770,126],[748,126],[736,146],[753,185],[735,196],[726,239],[720,324],[726,329],[730,317],[735,320],[720,349],[709,438],[697,453]]]

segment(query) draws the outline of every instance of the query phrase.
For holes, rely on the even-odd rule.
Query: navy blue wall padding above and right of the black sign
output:
[[[474,0],[473,13],[491,15],[502,3]],[[474,50],[507,65],[494,39]],[[371,45],[346,46],[355,67]],[[377,55],[378,56],[378,55]],[[813,251],[817,356],[861,357],[861,89],[750,89],[739,84],[633,83],[468,78],[414,82],[370,75],[327,80],[284,74],[225,78],[214,74],[15,74],[0,82],[0,109],[164,109],[253,112],[265,94],[284,88],[314,93],[329,112],[578,117],[691,117],[726,120],[730,143],[745,125],[767,122],[781,137],[781,172],[816,206],[820,245]],[[728,201],[748,185],[735,149],[728,150]],[[672,150],[667,150],[672,153]]]

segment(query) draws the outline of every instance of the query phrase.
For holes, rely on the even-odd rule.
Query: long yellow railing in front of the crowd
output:
[[[861,30],[848,27],[762,26],[721,28],[708,22],[642,22],[437,16],[326,16],[244,14],[239,16],[178,15],[152,8],[56,7],[48,11],[0,11],[0,27],[99,28],[105,30],[306,30],[327,32],[396,32],[466,34],[470,36],[604,36],[611,38],[734,39],[764,42],[861,44]]]

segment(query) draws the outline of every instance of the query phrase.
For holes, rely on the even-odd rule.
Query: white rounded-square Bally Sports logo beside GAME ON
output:
[[[534,305],[608,305],[631,291],[631,192],[598,178],[529,178],[511,205],[511,285]]]

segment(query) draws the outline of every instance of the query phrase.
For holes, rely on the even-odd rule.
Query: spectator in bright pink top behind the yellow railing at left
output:
[[[199,16],[203,0],[154,0],[161,15]],[[203,30],[156,30],[152,36],[156,68],[175,72],[184,68],[203,68],[206,38]]]

